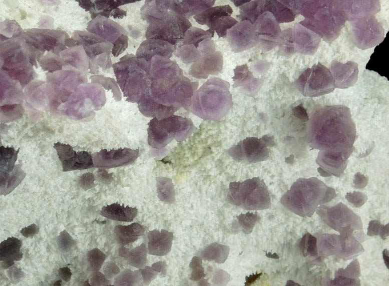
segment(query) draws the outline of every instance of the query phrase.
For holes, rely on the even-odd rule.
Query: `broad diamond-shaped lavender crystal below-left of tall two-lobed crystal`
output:
[[[327,186],[315,177],[300,178],[281,197],[281,203],[299,216],[311,217],[322,203]]]

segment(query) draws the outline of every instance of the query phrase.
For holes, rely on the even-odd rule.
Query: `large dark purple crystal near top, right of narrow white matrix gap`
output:
[[[162,19],[155,19],[146,30],[147,39],[165,40],[175,45],[184,38],[186,30],[192,25],[184,16],[168,11]]]

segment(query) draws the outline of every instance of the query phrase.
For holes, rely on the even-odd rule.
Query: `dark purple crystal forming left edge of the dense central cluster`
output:
[[[151,95],[151,79],[148,64],[144,59],[129,57],[113,65],[116,80],[123,95],[130,102],[138,102]]]

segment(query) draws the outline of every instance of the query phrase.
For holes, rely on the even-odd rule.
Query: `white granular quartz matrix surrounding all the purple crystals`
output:
[[[69,35],[74,30],[86,30],[91,20],[88,12],[79,7],[75,0],[62,0],[58,6],[43,5],[39,0],[0,0],[0,21],[15,19],[22,28],[37,28],[42,16],[54,18],[54,28],[65,30]],[[144,1],[122,6],[127,16],[117,19],[129,31],[129,48],[125,53],[135,54],[139,44],[145,40],[147,23],[141,19],[140,8]],[[229,4],[233,17],[238,10],[232,2],[216,0],[215,6]],[[388,31],[389,1],[381,0],[381,10],[376,14],[385,33]],[[302,18],[299,16],[296,21]],[[192,19],[193,20],[193,19]],[[191,21],[192,21],[191,20]],[[192,24],[201,27],[192,21]],[[281,28],[293,23],[281,24]],[[205,28],[205,26],[203,27]],[[137,35],[139,32],[139,36]],[[320,42],[314,55],[293,54],[285,57],[278,48],[262,53],[253,48],[241,53],[231,51],[226,39],[214,36],[216,49],[223,53],[223,72],[218,75],[233,84],[233,69],[248,64],[251,68],[257,60],[267,61],[270,68],[263,75],[264,84],[255,97],[249,97],[239,89],[230,88],[233,107],[221,121],[203,121],[193,114],[179,111],[190,117],[196,130],[182,143],[172,143],[172,152],[164,164],[149,154],[146,118],[137,105],[122,100],[116,102],[107,91],[107,104],[96,112],[90,122],[73,121],[45,114],[32,120],[28,115],[8,124],[1,141],[4,146],[20,148],[18,161],[23,162],[26,178],[9,195],[0,196],[0,241],[14,236],[22,240],[23,258],[16,262],[26,276],[17,285],[52,285],[59,279],[58,268],[69,265],[72,277],[63,285],[80,285],[89,277],[85,254],[98,247],[107,254],[106,261],[115,261],[121,269],[136,268],[117,254],[118,243],[113,229],[126,224],[107,220],[99,213],[102,206],[114,202],[138,208],[135,221],[147,230],[167,229],[174,233],[171,251],[166,256],[148,255],[147,265],[158,260],[167,262],[166,276],[158,275],[150,285],[185,286],[195,285],[189,279],[191,258],[206,244],[220,242],[230,247],[223,264],[203,262],[207,277],[212,267],[222,268],[231,274],[229,286],[243,286],[245,276],[263,272],[269,275],[269,283],[283,286],[287,279],[300,284],[320,285],[323,276],[333,277],[333,272],[349,261],[333,258],[324,259],[322,266],[310,264],[301,255],[298,241],[305,232],[312,234],[334,232],[324,224],[317,214],[302,218],[285,209],[280,197],[299,177],[318,177],[336,191],[336,197],[328,203],[332,206],[343,202],[360,215],[363,230],[368,221],[378,219],[389,222],[389,82],[377,73],[365,70],[373,48],[360,50],[355,47],[349,22],[340,36],[332,43]],[[173,55],[188,77],[190,65],[183,64]],[[348,89],[335,89],[330,94],[317,98],[303,97],[293,81],[307,67],[320,61],[330,65],[332,60],[355,61],[359,68],[356,84]],[[117,59],[113,58],[113,61]],[[385,61],[385,59],[382,59]],[[45,79],[41,69],[36,70],[40,79]],[[100,73],[102,74],[102,73]],[[103,72],[114,77],[113,70]],[[200,80],[200,85],[204,80]],[[323,105],[342,104],[350,108],[356,125],[357,138],[348,166],[340,177],[321,177],[315,163],[318,150],[308,146],[306,125],[292,115],[292,108],[303,103],[308,115]],[[247,163],[236,162],[226,149],[246,137],[274,136],[276,145],[270,148],[268,160]],[[287,140],[286,136],[294,139]],[[286,138],[285,138],[286,137]],[[81,174],[97,169],[63,172],[53,144],[62,142],[74,146],[76,151],[96,152],[100,149],[129,147],[140,149],[140,157],[134,164],[111,169],[111,183],[97,182],[87,191],[78,184]],[[358,155],[375,146],[366,157]],[[284,158],[294,154],[294,164],[286,164]],[[369,178],[363,190],[367,202],[360,208],[352,207],[344,198],[353,191],[352,180],[356,172]],[[171,177],[175,184],[176,202],[165,204],[157,197],[155,177]],[[250,234],[233,233],[231,223],[236,215],[245,212],[226,200],[228,184],[259,177],[268,186],[271,207],[258,211],[260,220]],[[40,231],[34,237],[24,238],[20,230],[36,223]],[[56,236],[66,229],[77,241],[67,253],[58,250]],[[134,246],[144,240],[139,239]],[[379,236],[367,236],[362,242],[364,252],[357,259],[361,266],[361,284],[389,285],[389,270],[382,260],[382,250],[389,248],[388,240]],[[269,259],[265,251],[276,252],[279,259]],[[4,269],[0,269],[0,285],[11,283]]]

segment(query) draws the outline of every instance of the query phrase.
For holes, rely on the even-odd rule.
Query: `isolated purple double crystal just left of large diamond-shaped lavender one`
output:
[[[247,210],[260,210],[270,207],[270,194],[265,182],[258,177],[243,182],[231,182],[227,200]]]

